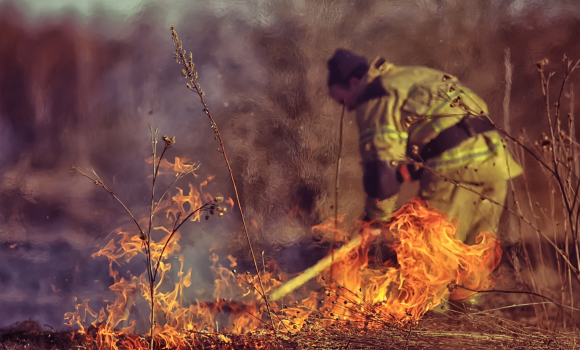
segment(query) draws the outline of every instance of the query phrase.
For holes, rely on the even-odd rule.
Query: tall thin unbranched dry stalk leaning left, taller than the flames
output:
[[[250,235],[248,233],[248,227],[246,225],[246,218],[244,216],[244,211],[242,210],[242,203],[240,202],[238,188],[236,186],[236,181],[234,180],[234,174],[232,172],[232,167],[230,166],[230,162],[229,162],[227,154],[226,154],[226,150],[224,147],[222,136],[221,136],[219,128],[218,128],[213,116],[211,115],[211,112],[209,111],[209,108],[208,108],[206,102],[205,102],[205,92],[202,90],[201,85],[197,81],[198,73],[195,70],[195,63],[193,62],[192,53],[191,52],[189,53],[189,58],[188,58],[187,52],[185,51],[185,49],[183,49],[183,43],[181,42],[181,40],[179,40],[179,37],[177,36],[177,32],[175,31],[175,28],[173,26],[171,26],[171,36],[173,39],[173,43],[175,44],[175,54],[174,54],[175,62],[177,62],[178,64],[183,66],[183,69],[181,70],[181,74],[183,75],[183,77],[185,79],[188,80],[188,83],[186,83],[186,86],[189,90],[191,90],[197,94],[197,96],[199,98],[198,101],[203,105],[203,112],[208,116],[208,118],[211,122],[210,126],[215,134],[215,137],[217,138],[217,140],[220,143],[220,148],[218,148],[218,151],[224,156],[224,160],[225,160],[226,165],[228,167],[230,179],[231,179],[232,186],[234,188],[234,193],[236,196],[236,202],[238,204],[238,209],[239,209],[240,215],[242,217],[242,225],[244,228],[244,233],[246,235],[248,247],[249,247],[250,253],[252,255],[252,260],[254,262],[254,267],[256,269],[256,275],[258,276],[258,281],[260,283],[259,293],[262,296],[262,298],[264,299],[264,302],[266,303],[266,308],[268,310],[268,316],[272,322],[272,329],[274,330],[274,332],[276,332],[276,327],[274,326],[274,319],[272,318],[273,312],[272,312],[271,307],[270,307],[270,302],[268,301],[268,296],[266,295],[266,292],[264,289],[264,283],[262,282],[262,277],[260,276],[260,270],[258,268],[258,263],[256,262],[256,255],[254,254],[254,248],[252,248],[252,241],[250,240]]]

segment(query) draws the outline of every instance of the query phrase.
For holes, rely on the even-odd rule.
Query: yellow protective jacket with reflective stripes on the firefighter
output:
[[[410,153],[420,153],[463,118],[487,114],[486,103],[454,76],[426,67],[395,66],[381,57],[373,60],[361,79],[356,107],[367,215],[377,220],[390,217],[401,184],[397,170]],[[476,134],[424,162],[436,173],[465,183],[508,180],[522,173],[495,130]],[[376,194],[377,183],[385,195]],[[384,217],[372,214],[376,205],[383,207]]]

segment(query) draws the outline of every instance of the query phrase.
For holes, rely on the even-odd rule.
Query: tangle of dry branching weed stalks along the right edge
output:
[[[571,315],[568,317],[572,320],[573,324],[577,326],[577,321],[574,317],[574,289],[572,285],[572,273],[576,275],[576,278],[580,280],[580,275],[578,272],[580,271],[579,263],[579,241],[578,241],[578,218],[579,218],[579,206],[578,206],[578,188],[580,186],[580,181],[578,179],[578,171],[576,169],[579,165],[579,160],[575,154],[576,142],[574,140],[574,118],[573,118],[573,101],[570,101],[570,114],[568,115],[568,130],[570,136],[567,136],[566,133],[562,130],[561,124],[561,106],[562,106],[562,97],[563,92],[566,88],[566,85],[572,75],[572,73],[578,68],[578,64],[580,61],[577,61],[575,64],[564,56],[563,59],[564,63],[564,76],[559,87],[559,92],[557,96],[556,103],[553,107],[555,107],[555,111],[552,112],[552,105],[550,102],[550,80],[555,75],[554,72],[551,72],[546,76],[544,72],[545,66],[548,64],[547,60],[542,60],[541,62],[537,63],[537,69],[540,76],[540,83],[542,88],[542,96],[544,98],[544,105],[546,108],[546,117],[549,126],[549,136],[546,134],[542,134],[541,139],[535,142],[530,142],[531,140],[529,137],[525,138],[518,138],[517,140],[511,136],[509,136],[509,131],[504,131],[504,135],[509,136],[513,143],[520,147],[522,150],[528,151],[528,154],[532,154],[533,156],[542,159],[542,162],[538,162],[541,165],[541,169],[544,172],[549,186],[548,190],[550,191],[549,199],[550,199],[550,213],[543,210],[541,207],[540,212],[544,215],[548,222],[552,224],[552,231],[553,231],[553,241],[554,243],[557,242],[557,235],[560,232],[561,226],[559,223],[555,223],[553,219],[555,217],[555,211],[557,207],[561,207],[563,210],[563,230],[564,230],[564,245],[565,248],[562,251],[559,247],[554,247],[556,250],[556,261],[555,264],[557,266],[559,277],[560,277],[560,284],[561,284],[561,293],[560,293],[560,304],[564,304],[566,302],[566,290],[569,291],[569,301],[570,301],[570,309],[572,310]],[[522,133],[525,135],[525,131],[522,130]],[[530,146],[524,147],[524,142],[527,141]],[[530,153],[531,150],[534,150],[534,153]],[[524,157],[520,157],[522,160]],[[528,197],[528,202],[530,206],[530,210],[532,215],[535,217],[535,210],[534,206],[532,205],[530,190],[528,184],[526,182],[526,192]],[[558,195],[559,193],[559,195]],[[557,197],[560,196],[560,204],[558,205]],[[514,197],[515,200],[515,197]],[[516,201],[516,206],[519,207],[519,203]],[[539,204],[536,203],[536,206],[539,207]],[[521,212],[521,208],[520,208]],[[541,248],[541,239],[540,234],[538,231],[537,240],[538,240],[538,253],[539,253],[539,260],[541,265],[545,268],[546,267],[546,257],[542,252]],[[573,250],[572,253],[569,250],[569,238],[572,238],[573,242]],[[523,240],[523,236],[522,236]],[[529,263],[529,253],[524,246],[524,253],[527,260],[527,264],[531,267]],[[573,256],[575,255],[575,256]],[[572,266],[571,261],[576,260],[576,265]],[[534,275],[531,275],[531,290],[539,292],[539,286],[537,285]],[[527,284],[526,284],[527,287]],[[530,290],[529,287],[527,287]],[[549,313],[545,308],[545,305],[542,305],[542,309],[546,316],[549,317]],[[541,324],[541,320],[543,317],[540,315],[540,309],[536,307],[536,314],[538,316],[539,325]],[[562,312],[562,323],[564,328],[566,328],[566,319],[565,312],[563,308],[560,308],[558,312]],[[555,317],[554,320],[554,328],[558,322],[558,316]]]

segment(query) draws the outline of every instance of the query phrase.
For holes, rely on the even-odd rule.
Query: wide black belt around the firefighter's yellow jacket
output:
[[[429,141],[421,152],[419,152],[419,156],[423,161],[426,161],[458,146],[470,137],[491,130],[495,130],[495,128],[489,122],[477,118],[465,117],[459,123],[441,131],[437,137]],[[409,147],[412,147],[412,145],[408,144],[407,154],[411,158],[420,160],[417,159],[417,156],[409,152]]]

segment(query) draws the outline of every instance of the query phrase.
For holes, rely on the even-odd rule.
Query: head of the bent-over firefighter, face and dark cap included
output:
[[[336,50],[328,60],[328,91],[332,99],[344,102],[349,111],[353,110],[360,80],[368,70],[366,58],[347,50]]]

